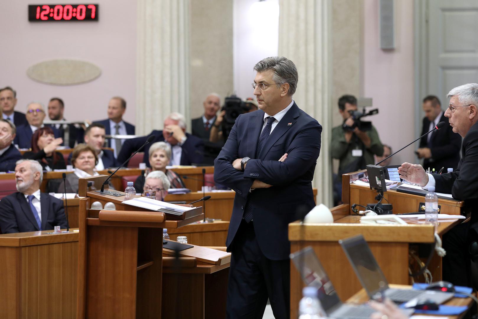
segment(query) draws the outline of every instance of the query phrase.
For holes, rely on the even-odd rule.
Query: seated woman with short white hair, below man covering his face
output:
[[[164,142],[153,143],[149,149],[149,161],[151,165],[151,171],[161,171],[163,172],[169,180],[170,187],[168,188],[186,188],[183,180],[176,173],[170,169],[166,169],[166,165],[169,164],[171,160],[171,147]],[[143,192],[143,185],[145,183],[144,175],[138,176],[136,182],[134,183],[134,188],[136,192]]]

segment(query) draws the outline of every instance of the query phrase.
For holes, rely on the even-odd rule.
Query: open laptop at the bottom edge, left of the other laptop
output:
[[[324,309],[327,318],[335,319],[369,319],[376,310],[368,305],[344,304],[335,291],[324,267],[320,263],[312,247],[291,253],[291,260],[299,271],[307,286],[317,288],[317,297]],[[404,310],[404,312],[407,310]],[[411,315],[413,310],[407,313]]]

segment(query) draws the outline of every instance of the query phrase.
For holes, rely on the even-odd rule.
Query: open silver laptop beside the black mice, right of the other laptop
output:
[[[454,295],[453,293],[442,291],[390,288],[385,275],[383,275],[377,260],[370,250],[369,244],[362,235],[338,242],[347,255],[348,261],[359,278],[360,284],[371,299],[389,297],[394,302],[402,303],[414,298],[424,298],[433,300],[437,304],[442,304]]]

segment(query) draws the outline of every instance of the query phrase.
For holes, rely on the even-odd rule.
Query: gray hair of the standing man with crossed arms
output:
[[[297,88],[297,82],[299,81],[299,75],[294,63],[283,56],[271,56],[262,59],[254,66],[254,70],[257,72],[264,72],[267,70],[274,70],[274,76],[272,81],[277,83],[277,87],[288,83],[289,92],[292,96]]]

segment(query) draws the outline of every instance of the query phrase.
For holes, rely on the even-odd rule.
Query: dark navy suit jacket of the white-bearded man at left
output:
[[[54,229],[54,226],[66,228],[63,201],[47,193],[40,194],[42,208],[42,230]],[[2,233],[39,231],[32,209],[25,195],[16,192],[0,201],[0,229]]]

